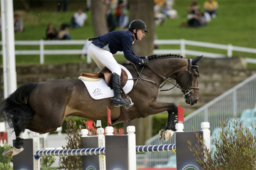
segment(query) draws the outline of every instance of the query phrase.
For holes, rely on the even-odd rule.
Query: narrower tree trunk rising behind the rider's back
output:
[[[91,11],[95,37],[108,33],[104,0],[92,0]]]

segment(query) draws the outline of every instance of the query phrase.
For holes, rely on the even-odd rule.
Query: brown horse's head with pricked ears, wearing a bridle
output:
[[[191,61],[188,59],[189,66],[185,72],[180,73],[180,76],[177,78],[177,83],[180,85],[180,88],[186,99],[186,103],[193,106],[198,102],[198,66],[197,62],[203,56],[196,57]]]

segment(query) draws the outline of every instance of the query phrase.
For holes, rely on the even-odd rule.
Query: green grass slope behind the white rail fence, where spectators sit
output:
[[[47,1],[48,2],[48,1]],[[49,1],[52,2],[52,1]],[[212,42],[218,44],[232,44],[241,47],[256,48],[256,1],[255,0],[218,0],[219,9],[217,18],[212,19],[208,26],[200,28],[181,27],[182,22],[186,22],[187,7],[190,0],[176,0],[174,9],[178,11],[177,19],[168,19],[164,25],[155,28],[158,39],[185,39],[201,42]],[[203,9],[204,0],[198,0],[198,4]],[[24,11],[23,7],[15,6],[15,10],[23,18],[25,31],[15,33],[15,40],[41,40],[45,38],[45,31],[48,23],[58,29],[62,23],[70,23],[71,16],[76,9],[86,6],[85,1],[69,1],[67,12],[57,12],[56,4],[43,4],[43,7],[31,8],[31,11]],[[70,29],[73,40],[85,40],[94,37],[93,21],[91,12],[86,11],[89,23],[83,28]],[[82,45],[47,45],[45,49],[81,49]],[[160,45],[161,49],[178,49],[179,45]],[[39,46],[15,46],[16,50],[31,49],[38,50]],[[201,48],[186,45],[186,49],[216,52],[226,54],[227,51],[214,48]],[[147,54],[145,54],[147,55]],[[255,58],[255,54],[233,51],[233,56],[243,56]],[[118,61],[125,61],[122,56],[115,56]],[[85,62],[78,55],[47,55],[45,63],[67,63]],[[16,56],[17,64],[39,64],[38,56]],[[255,65],[249,65],[254,67]]]

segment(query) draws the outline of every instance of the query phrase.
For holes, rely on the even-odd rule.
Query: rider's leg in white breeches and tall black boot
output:
[[[96,47],[91,44],[88,50],[90,57],[96,62],[100,69],[105,66],[112,72],[111,85],[114,91],[113,106],[128,106],[130,102],[126,102],[121,96],[121,68],[113,57],[113,54],[105,49]]]

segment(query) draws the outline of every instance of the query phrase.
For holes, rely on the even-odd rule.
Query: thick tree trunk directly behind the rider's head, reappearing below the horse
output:
[[[135,41],[133,51],[137,56],[148,56],[154,50],[154,0],[129,0],[130,22],[142,20],[147,26],[148,33],[145,33],[142,41]],[[134,119],[125,126],[134,125],[136,127],[136,144],[143,145],[145,140],[152,136],[152,117]]]

